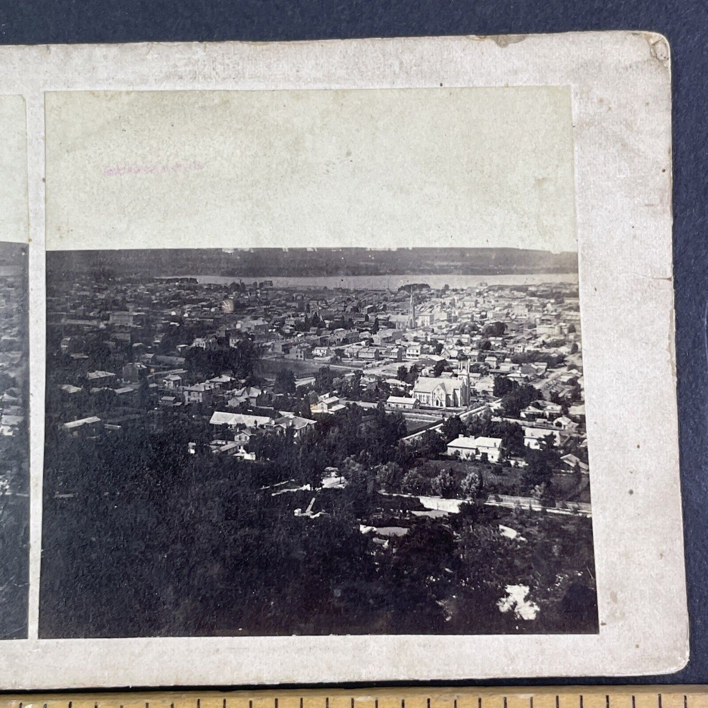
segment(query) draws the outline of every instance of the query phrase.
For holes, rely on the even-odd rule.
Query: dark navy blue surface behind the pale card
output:
[[[1,44],[306,40],[612,29],[661,32],[672,52],[676,346],[691,660],[685,670],[670,676],[612,682],[547,678],[535,683],[708,683],[707,3],[0,0]],[[651,239],[652,234],[646,238]],[[627,312],[627,318],[631,317],[632,312]],[[622,322],[615,326],[621,327]],[[641,411],[636,414],[641,416]]]

